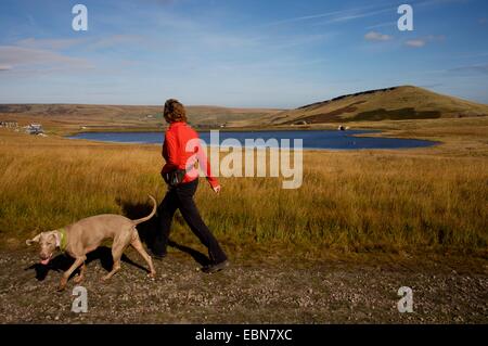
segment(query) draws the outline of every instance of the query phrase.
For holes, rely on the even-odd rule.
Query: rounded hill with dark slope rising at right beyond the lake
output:
[[[291,125],[483,115],[488,115],[488,105],[402,86],[344,95],[270,115],[264,120]]]

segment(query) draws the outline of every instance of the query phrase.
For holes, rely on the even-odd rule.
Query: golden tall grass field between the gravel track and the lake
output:
[[[441,140],[409,151],[306,152],[304,184],[275,178],[201,181],[197,204],[231,255],[260,249],[311,257],[356,253],[488,254],[488,119],[410,121],[387,134]],[[377,126],[378,124],[376,124]],[[431,129],[431,130],[429,130]],[[166,188],[160,148],[0,131],[0,236],[22,247],[36,232],[103,214],[150,209]],[[172,236],[198,246],[180,217]]]

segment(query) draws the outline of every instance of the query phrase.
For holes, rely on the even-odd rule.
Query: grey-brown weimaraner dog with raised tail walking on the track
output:
[[[142,219],[130,220],[120,215],[98,215],[86,219],[81,219],[78,222],[72,223],[65,228],[54,231],[42,232],[36,235],[31,240],[27,240],[27,245],[33,243],[39,243],[40,245],[40,259],[42,265],[48,265],[56,248],[65,252],[73,258],[75,262],[73,266],[63,273],[60,282],[59,291],[64,290],[67,280],[70,274],[81,266],[80,273],[74,279],[75,283],[80,283],[85,278],[87,254],[94,251],[105,239],[112,238],[112,256],[114,258],[114,266],[112,271],[108,272],[102,280],[108,280],[120,269],[120,257],[130,244],[136,248],[139,254],[145,259],[150,266],[150,278],[154,278],[156,271],[154,270],[153,261],[142,247],[141,240],[139,239],[138,230],[136,226],[147,221],[154,214],[156,214],[156,200],[153,196],[149,196],[154,206],[151,214]]]

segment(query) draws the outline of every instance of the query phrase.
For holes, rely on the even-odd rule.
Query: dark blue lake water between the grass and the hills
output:
[[[432,141],[401,139],[401,138],[377,138],[377,137],[356,137],[375,131],[363,130],[310,130],[310,131],[219,131],[219,143],[226,146],[227,139],[236,139],[244,146],[246,139],[290,139],[290,145],[294,146],[294,139],[301,139],[304,149],[329,149],[329,150],[358,150],[358,149],[412,149],[425,148],[437,144]],[[210,144],[210,132],[200,132],[200,138],[207,145]],[[163,132],[85,132],[68,137],[70,139],[85,139],[102,142],[117,143],[162,143]],[[223,144],[223,145],[222,145]],[[227,143],[229,144],[229,143]]]

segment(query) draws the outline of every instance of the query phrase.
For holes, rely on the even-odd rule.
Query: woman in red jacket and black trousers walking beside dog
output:
[[[216,193],[220,192],[220,184],[211,176],[210,165],[200,144],[198,134],[187,124],[184,106],[174,99],[166,101],[164,117],[169,124],[169,128],[165,133],[163,144],[163,157],[166,164],[163,167],[162,176],[168,183],[168,192],[158,206],[160,230],[154,242],[153,255],[159,259],[166,256],[171,220],[176,210],[180,209],[190,229],[208,248],[210,264],[204,267],[203,271],[222,270],[229,265],[227,256],[202,220],[193,201],[198,185],[196,162],[200,162]]]

